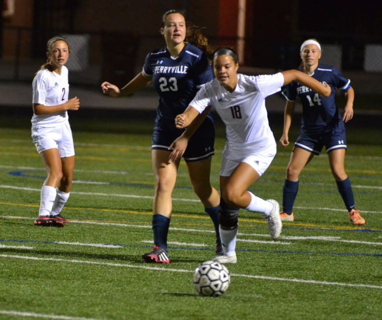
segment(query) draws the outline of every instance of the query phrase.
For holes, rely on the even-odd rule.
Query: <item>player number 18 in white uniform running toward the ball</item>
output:
[[[276,141],[269,128],[265,98],[279,92],[283,85],[298,81],[320,95],[328,97],[330,87],[298,70],[249,76],[237,73],[237,54],[231,48],[220,48],[213,55],[215,79],[195,96],[184,113],[175,118],[177,128],[185,128],[213,106],[226,125],[227,142],[220,171],[221,220],[220,236],[224,254],[215,261],[236,263],[236,235],[239,208],[262,213],[272,239],[281,234],[279,205],[263,200],[248,191],[269,167],[276,154]],[[183,148],[174,141],[171,154],[181,156]]]

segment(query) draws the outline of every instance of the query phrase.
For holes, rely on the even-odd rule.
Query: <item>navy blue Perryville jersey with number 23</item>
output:
[[[205,83],[213,79],[213,71],[205,53],[186,43],[179,56],[171,57],[166,47],[146,56],[143,72],[152,76],[159,94],[156,123],[171,121],[182,113]]]

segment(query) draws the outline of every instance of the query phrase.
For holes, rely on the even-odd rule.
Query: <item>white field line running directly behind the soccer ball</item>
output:
[[[0,255],[0,257],[9,258],[9,259],[24,259],[24,260],[33,260],[33,261],[53,261],[53,262],[63,262],[63,263],[101,265],[101,266],[108,266],[108,267],[135,268],[135,269],[157,270],[157,271],[167,271],[167,272],[180,272],[180,273],[193,273],[194,272],[194,270],[174,269],[174,268],[166,268],[166,267],[149,267],[149,266],[143,266],[143,265],[138,266],[138,265],[111,263],[111,262],[97,262],[97,261],[90,261],[90,260],[40,258],[40,257],[27,257],[27,256],[18,256],[18,255],[2,255],[2,254]],[[305,279],[288,279],[288,278],[268,277],[268,276],[261,276],[261,275],[249,275],[249,274],[231,274],[231,276],[260,279],[260,280],[309,283],[309,284],[317,284],[317,285],[331,285],[331,286],[382,289],[382,286],[377,286],[377,285],[372,285],[372,284],[362,284],[362,283],[357,284],[357,283],[328,282],[328,281],[305,280]]]

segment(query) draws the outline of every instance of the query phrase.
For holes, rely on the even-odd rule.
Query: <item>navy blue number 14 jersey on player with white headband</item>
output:
[[[331,87],[330,97],[324,98],[297,82],[292,82],[282,89],[282,94],[288,101],[294,102],[300,98],[303,105],[302,131],[316,134],[328,132],[334,127],[344,129],[345,125],[334,97],[336,88],[344,92],[349,90],[350,80],[343,77],[337,68],[321,63],[311,76]]]

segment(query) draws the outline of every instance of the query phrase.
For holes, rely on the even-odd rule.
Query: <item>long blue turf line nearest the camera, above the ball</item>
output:
[[[44,245],[62,245],[55,241],[32,241],[32,240],[17,240],[17,239],[0,239],[0,243],[20,243],[20,244],[44,244]],[[123,244],[103,244],[109,247],[123,247],[123,248],[142,248],[151,249],[152,246],[140,246],[140,245],[123,245]],[[214,248],[188,248],[188,247],[172,247],[171,250],[186,250],[186,251],[213,251]],[[312,252],[312,251],[290,251],[290,250],[253,250],[253,249],[237,249],[236,252],[255,252],[266,254],[292,254],[292,255],[322,255],[322,256],[344,256],[344,257],[382,257],[382,254],[354,254],[354,253],[336,253],[336,252]]]

